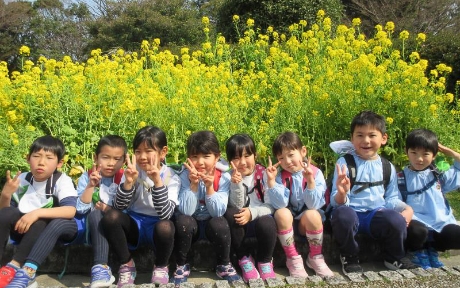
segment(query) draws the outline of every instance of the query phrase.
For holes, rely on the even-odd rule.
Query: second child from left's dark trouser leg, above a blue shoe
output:
[[[102,211],[94,209],[88,215],[88,226],[91,237],[91,246],[93,247],[93,265],[106,265],[109,261],[109,242],[105,238],[100,225]]]

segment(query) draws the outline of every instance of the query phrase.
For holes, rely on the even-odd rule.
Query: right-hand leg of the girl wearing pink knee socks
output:
[[[307,210],[303,213],[299,222],[299,233],[307,236],[311,258],[322,253],[323,221],[317,210]]]

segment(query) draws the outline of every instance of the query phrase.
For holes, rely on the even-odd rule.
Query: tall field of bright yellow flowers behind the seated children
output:
[[[159,49],[155,39],[138,52],[93,50],[85,63],[68,56],[33,62],[23,46],[21,71],[0,63],[0,175],[27,170],[28,146],[52,134],[66,144],[64,169],[78,176],[76,167],[90,167],[101,136],[119,134],[130,143],[150,124],[167,132],[168,161],[176,163],[197,130],[214,131],[222,144],[248,133],[263,163],[273,139],[295,131],[327,175],[335,161],[329,143],[348,139],[351,119],[364,109],[385,115],[389,143],[382,152],[399,167],[406,162],[404,138],[414,128],[430,128],[460,149],[459,105],[444,86],[452,68],[427,71],[417,51],[393,46],[395,39],[423,45],[422,33],[394,35],[388,22],[366,39],[359,19],[333,29],[322,10],[311,29],[300,21],[288,34],[258,31],[248,19],[233,44],[222,36],[211,41],[208,18],[203,25],[201,49],[182,48],[180,55]]]

